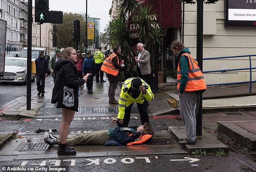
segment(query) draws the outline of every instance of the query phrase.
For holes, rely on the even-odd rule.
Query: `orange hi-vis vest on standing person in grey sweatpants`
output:
[[[181,56],[186,56],[189,60],[189,77],[188,77],[187,85],[184,91],[198,91],[198,90],[206,89],[206,83],[204,82],[203,73],[201,72],[200,68],[195,62],[195,59],[189,53],[184,53]],[[178,90],[180,87],[180,78],[181,78],[181,70],[180,70],[180,62],[179,62],[178,70],[177,70]]]

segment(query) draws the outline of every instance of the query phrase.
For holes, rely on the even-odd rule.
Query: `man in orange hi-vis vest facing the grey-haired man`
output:
[[[118,104],[115,100],[115,89],[118,86],[119,69],[122,68],[124,60],[119,63],[118,56],[121,54],[121,46],[116,45],[113,48],[113,53],[110,54],[103,62],[101,70],[108,73],[107,76],[109,80],[109,104]]]

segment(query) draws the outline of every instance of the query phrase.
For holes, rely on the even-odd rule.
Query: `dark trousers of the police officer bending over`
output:
[[[130,117],[131,117],[131,110],[132,110],[133,104],[130,106],[126,106],[124,110],[124,122],[123,124],[118,124],[118,127],[128,127]],[[149,114],[147,113],[147,108],[149,107],[149,102],[147,100],[144,100],[143,104],[137,103],[138,110],[140,112],[141,117],[141,124],[144,125],[145,122],[149,123]]]

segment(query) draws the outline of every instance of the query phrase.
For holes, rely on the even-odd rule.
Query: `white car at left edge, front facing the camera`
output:
[[[27,58],[6,57],[4,77],[1,78],[1,81],[27,84]],[[32,74],[31,81],[35,81]]]

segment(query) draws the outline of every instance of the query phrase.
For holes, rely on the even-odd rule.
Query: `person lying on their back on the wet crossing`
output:
[[[103,131],[92,131],[80,133],[78,135],[68,137],[67,145],[104,145],[104,146],[118,146],[118,145],[133,145],[141,144],[152,138],[155,133],[151,125],[145,122],[144,125],[135,128],[117,127],[115,129],[108,129]],[[44,137],[44,142],[48,145],[59,145],[60,140],[54,135]]]

